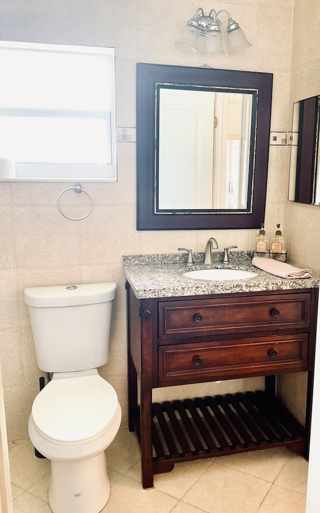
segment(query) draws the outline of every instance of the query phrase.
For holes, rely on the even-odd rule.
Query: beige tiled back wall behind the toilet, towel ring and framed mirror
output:
[[[307,13],[311,0],[295,2]],[[241,24],[252,47],[230,57],[187,56],[174,46],[187,19],[200,7],[194,0],[0,0],[0,39],[46,43],[114,46],[118,127],[136,125],[137,62],[230,68],[274,73],[271,129],[288,128],[291,78],[293,0],[216,0],[204,11],[226,9]],[[308,32],[308,31],[307,31]],[[311,36],[310,36],[311,37]],[[296,41],[294,39],[296,50]],[[302,51],[303,50],[303,51]],[[310,45],[301,50],[307,69]],[[297,73],[296,68],[294,68]],[[302,76],[304,76],[302,74]],[[23,77],[22,77],[23,80]],[[300,80],[302,87],[303,81]],[[252,249],[256,230],[136,231],[136,144],[118,144],[117,183],[87,183],[93,199],[90,216],[81,222],[62,217],[56,203],[62,183],[0,183],[0,357],[9,440],[27,436],[27,419],[42,375],[36,366],[23,289],[27,286],[114,280],[118,284],[110,359],[102,375],[117,389],[126,409],[126,330],[122,255],[176,252],[178,245],[203,251],[209,236],[220,247]],[[286,147],[270,148],[266,230],[284,221]],[[68,193],[69,213],[83,212],[85,198]],[[77,196],[77,198],[75,197]],[[78,205],[79,202],[79,205]],[[84,204],[82,204],[84,202]],[[295,206],[296,207],[296,206]],[[286,223],[289,215],[286,206]],[[300,212],[299,207],[296,207]],[[301,212],[301,219],[306,210]],[[308,228],[309,237],[311,230]],[[301,254],[304,257],[304,253]],[[306,263],[309,261],[307,260]],[[310,262],[311,265],[311,262]],[[320,266],[318,266],[320,267]],[[227,382],[209,393],[254,387],[256,382]],[[182,387],[178,394],[201,393]],[[216,388],[219,387],[219,388]],[[208,390],[206,390],[208,391]],[[206,391],[204,393],[206,393]],[[161,397],[173,390],[157,391]]]

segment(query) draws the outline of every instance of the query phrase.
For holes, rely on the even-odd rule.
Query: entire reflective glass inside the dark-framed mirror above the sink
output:
[[[252,95],[159,89],[158,209],[245,209]]]

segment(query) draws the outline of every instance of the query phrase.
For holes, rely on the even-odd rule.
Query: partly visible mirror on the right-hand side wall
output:
[[[289,200],[320,205],[320,95],[293,104]]]

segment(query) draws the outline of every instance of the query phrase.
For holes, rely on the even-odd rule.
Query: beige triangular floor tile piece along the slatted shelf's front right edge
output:
[[[290,452],[288,449],[278,447],[275,449],[243,452],[232,456],[221,456],[216,458],[215,461],[216,463],[273,483],[289,457]]]

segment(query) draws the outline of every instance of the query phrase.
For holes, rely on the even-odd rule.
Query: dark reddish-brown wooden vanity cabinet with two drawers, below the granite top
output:
[[[192,459],[281,445],[308,456],[317,289],[138,300],[126,288],[129,429],[144,488],[154,473]],[[302,426],[275,383],[304,371]],[[264,390],[152,402],[153,388],[254,376],[265,376]]]

